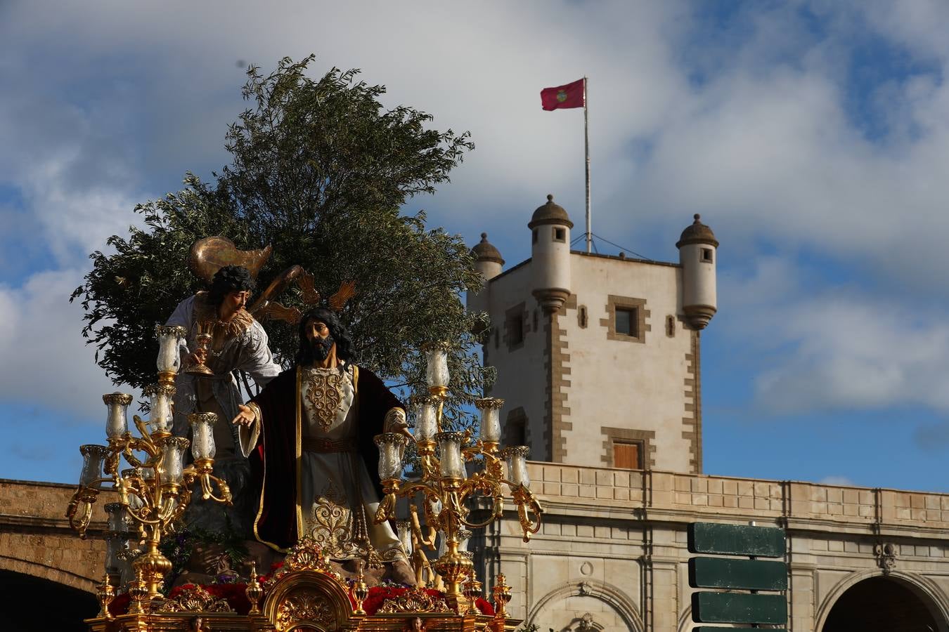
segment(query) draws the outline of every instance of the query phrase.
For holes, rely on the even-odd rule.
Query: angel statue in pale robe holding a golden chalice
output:
[[[263,250],[240,251],[224,237],[208,237],[192,246],[189,264],[195,275],[210,282],[207,291],[182,300],[168,318],[167,325],[184,327],[187,334],[179,349],[182,370],[175,382],[175,424],[177,436],[189,434],[188,415],[214,412],[214,470],[228,481],[234,494],[233,509],[219,507],[204,511],[202,503],[189,508],[187,522],[212,532],[223,532],[227,521],[236,533],[251,536],[251,465],[237,449],[236,429],[229,422],[243,402],[238,376],[249,375],[256,389],[265,387],[283,368],[270,352],[267,332],[258,318],[276,317],[290,322],[300,312],[285,308],[272,298],[290,281],[296,280],[304,300],[315,302],[312,277],[298,265],[285,270],[250,304],[255,278],[270,257]],[[318,296],[318,295],[316,295]],[[249,306],[250,304],[250,306]],[[256,318],[254,316],[257,316]],[[250,387],[247,387],[250,390]],[[252,395],[248,393],[248,396]]]

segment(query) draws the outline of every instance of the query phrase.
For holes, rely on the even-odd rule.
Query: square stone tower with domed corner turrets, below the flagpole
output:
[[[485,288],[470,310],[491,318],[484,361],[498,380],[503,440],[531,460],[701,472],[698,331],[715,314],[717,242],[696,221],[679,263],[570,251],[568,212],[530,219],[531,258],[502,271],[474,246]],[[711,261],[710,261],[711,259]]]

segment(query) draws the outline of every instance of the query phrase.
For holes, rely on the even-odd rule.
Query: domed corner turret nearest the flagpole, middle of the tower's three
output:
[[[563,207],[547,196],[547,204],[530,218],[530,267],[532,294],[544,312],[556,312],[570,296],[570,228],[573,222]]]

